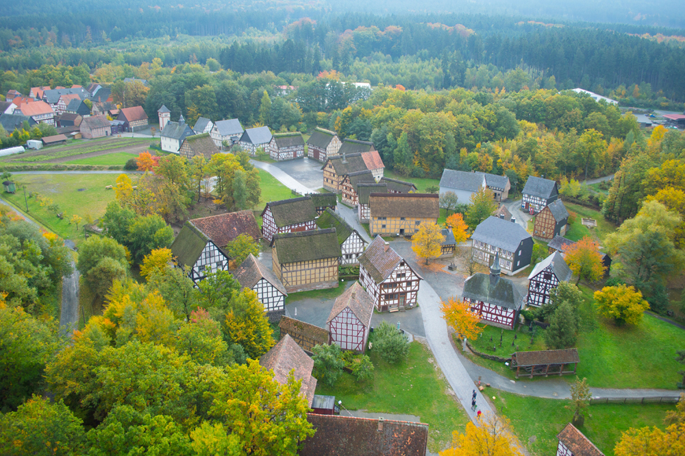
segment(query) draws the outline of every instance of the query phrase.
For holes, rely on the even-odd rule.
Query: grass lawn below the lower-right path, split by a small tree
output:
[[[532,455],[556,454],[556,435],[573,418],[573,411],[564,408],[568,401],[519,396],[497,389],[491,389],[489,396],[497,398],[492,402],[498,413],[511,420],[514,433]],[[630,427],[656,426],[664,429],[663,420],[667,410],[675,410],[675,405],[590,405],[586,409],[585,423],[580,431],[606,456],[613,456],[614,446],[621,439],[621,432]]]

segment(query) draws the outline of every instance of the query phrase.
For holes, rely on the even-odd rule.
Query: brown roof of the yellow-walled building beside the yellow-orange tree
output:
[[[369,209],[373,217],[440,217],[437,193],[371,193]]]

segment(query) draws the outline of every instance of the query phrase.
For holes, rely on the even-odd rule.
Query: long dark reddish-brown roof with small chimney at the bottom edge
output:
[[[428,424],[307,413],[314,435],[300,456],[425,456]]]

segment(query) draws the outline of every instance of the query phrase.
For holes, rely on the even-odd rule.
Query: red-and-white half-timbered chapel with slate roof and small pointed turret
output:
[[[513,329],[525,301],[523,294],[508,278],[500,277],[499,254],[490,274],[477,272],[464,281],[464,302],[485,324]]]

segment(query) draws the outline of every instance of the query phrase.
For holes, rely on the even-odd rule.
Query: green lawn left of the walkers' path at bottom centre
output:
[[[419,342],[410,344],[409,357],[397,365],[380,359],[371,350],[373,380],[358,383],[343,374],[336,386],[323,383],[316,394],[336,396],[347,409],[384,413],[408,413],[429,424],[428,448],[437,453],[452,441],[452,431],[464,431],[468,418],[456,401],[447,395],[447,382],[438,375],[432,355]]]

